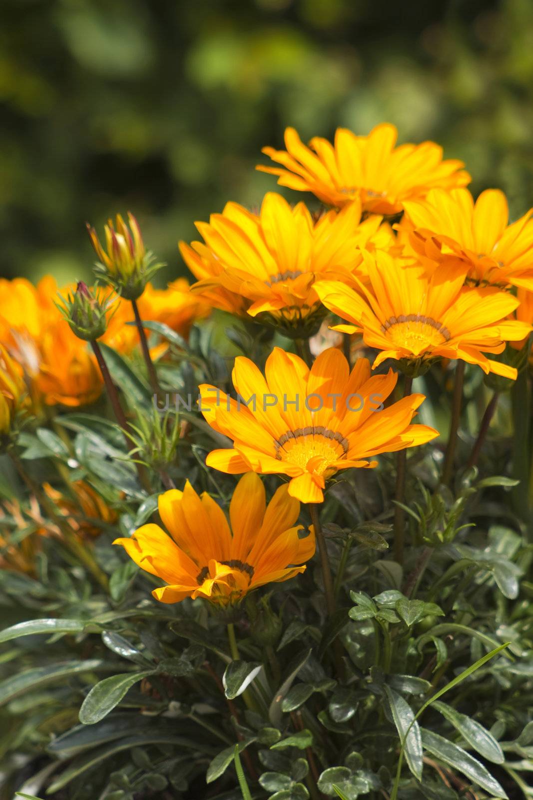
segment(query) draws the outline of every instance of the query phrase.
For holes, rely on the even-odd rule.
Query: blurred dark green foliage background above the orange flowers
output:
[[[533,2],[2,0],[1,274],[90,274],[84,223],[132,210],[185,273],[179,238],[283,130],[394,122],[463,158],[473,189],[533,205]],[[290,192],[288,195],[290,196]],[[292,194],[292,197],[296,197]]]

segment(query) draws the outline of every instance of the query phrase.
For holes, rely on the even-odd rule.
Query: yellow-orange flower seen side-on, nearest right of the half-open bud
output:
[[[258,214],[228,203],[209,224],[198,222],[205,244],[181,242],[181,254],[200,278],[193,290],[213,305],[260,315],[261,322],[302,336],[324,317],[314,282],[349,279],[362,262],[360,247],[392,244],[392,231],[380,222],[379,217],[361,222],[358,202],[316,219],[304,203],[292,208],[269,192]]]

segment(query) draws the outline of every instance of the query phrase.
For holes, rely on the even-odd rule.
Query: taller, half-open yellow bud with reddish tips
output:
[[[87,230],[98,258],[94,268],[98,278],[113,286],[126,300],[137,300],[163,265],[155,263],[153,254],[145,250],[138,222],[129,212],[128,223],[121,214],[117,214],[115,222],[108,219],[104,227],[105,246],[89,224]]]

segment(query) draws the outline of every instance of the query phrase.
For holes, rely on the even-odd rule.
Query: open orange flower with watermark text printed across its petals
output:
[[[371,378],[366,358],[350,372],[336,348],[324,350],[309,370],[276,347],[265,376],[240,356],[233,368],[237,400],[200,386],[205,419],[233,440],[232,449],[209,453],[206,464],[221,472],[283,474],[292,497],[322,502],[325,482],[339,470],[377,466],[368,459],[438,436],[433,428],[411,424],[423,394],[384,408],[396,378],[392,370]]]

